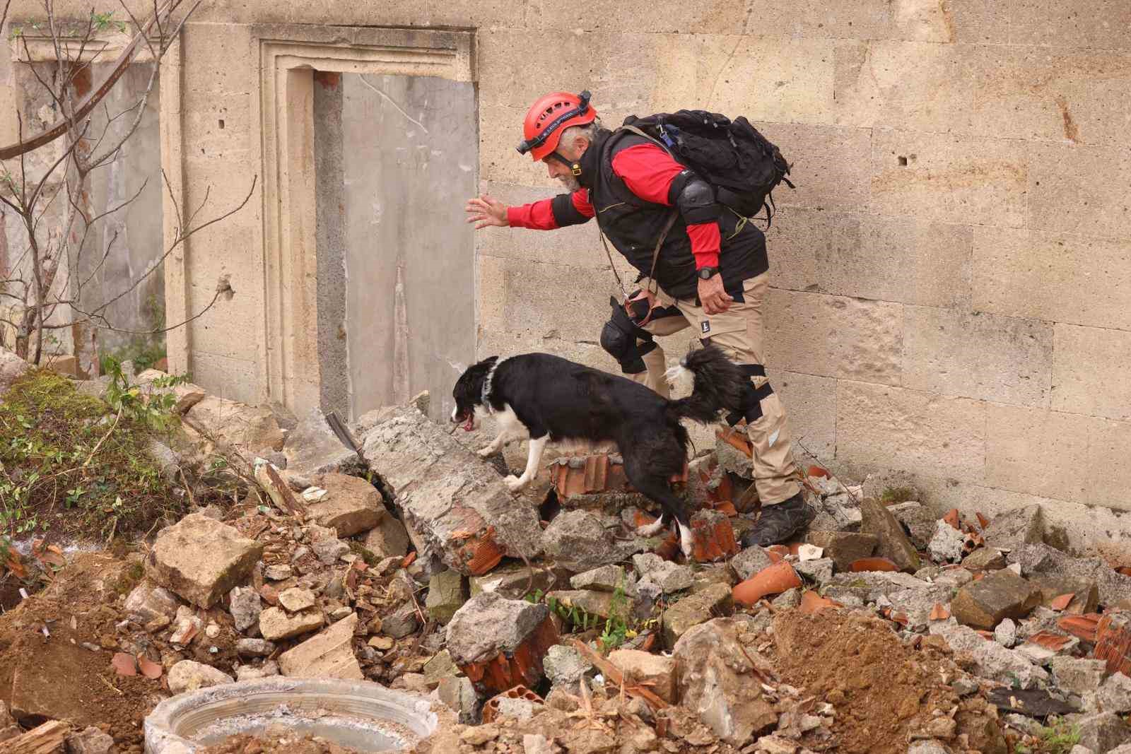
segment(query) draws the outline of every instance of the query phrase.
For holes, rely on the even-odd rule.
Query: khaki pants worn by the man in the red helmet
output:
[[[641,287],[649,280],[641,280]],[[651,289],[657,286],[653,285]],[[701,306],[696,306],[694,300],[679,301],[663,291],[657,293],[661,306],[673,304],[679,314],[670,314],[655,319],[641,328],[653,336],[665,336],[679,332],[688,327],[694,327],[699,338],[705,343],[718,346],[734,363],[765,364],[762,350],[762,301],[769,288],[769,274],[763,272],[743,284],[744,301],[734,301],[723,314],[708,315]],[[645,354],[647,367],[639,374],[625,376],[645,384],[665,398],[668,397],[667,382],[664,380],[665,355],[663,347],[657,347]],[[763,376],[752,376],[756,388],[767,382]],[[772,505],[793,497],[801,492],[797,466],[793,459],[793,441],[785,419],[785,409],[776,392],[761,400],[762,415],[753,423],[748,423],[746,435],[753,447],[754,486],[762,505]]]

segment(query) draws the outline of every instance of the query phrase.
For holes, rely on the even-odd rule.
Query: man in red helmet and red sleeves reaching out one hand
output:
[[[705,344],[720,347],[744,370],[750,376],[744,413],[728,422],[746,422],[762,512],[743,545],[788,539],[812,511],[802,496],[782,402],[763,367],[766,236],[718,205],[711,187],[657,142],[603,128],[588,93],[554,93],[535,102],[524,137],[519,151],[542,161],[570,193],[521,207],[484,194],[468,200],[468,222],[476,228],[549,231],[597,217],[602,233],[640,271],[641,284],[630,297],[631,318],[613,301],[602,347],[625,375],[664,396],[664,350],[654,336],[693,327]]]

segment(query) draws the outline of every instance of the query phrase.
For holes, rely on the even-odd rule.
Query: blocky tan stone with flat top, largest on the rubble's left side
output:
[[[251,575],[262,544],[202,513],[185,515],[157,532],[146,558],[146,574],[205,609]]]

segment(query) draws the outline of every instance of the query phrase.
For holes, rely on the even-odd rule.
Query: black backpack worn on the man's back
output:
[[[647,118],[629,115],[621,127],[665,147],[715,188],[719,203],[743,217],[766,208],[766,227],[774,216],[771,192],[778,183],[793,183],[789,163],[745,116],[731,120],[706,110],[681,110]]]

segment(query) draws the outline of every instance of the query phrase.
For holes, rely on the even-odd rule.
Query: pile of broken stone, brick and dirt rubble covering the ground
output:
[[[231,408],[190,393],[187,415]],[[50,586],[0,616],[0,739],[141,752],[161,700],[282,675],[431,700],[448,722],[422,754],[1131,742],[1131,575],[1046,544],[1039,506],[939,518],[812,467],[808,531],[742,548],[749,457],[720,435],[676,480],[684,558],[674,532],[637,535],[657,511],[615,454],[555,460],[539,509],[415,406],[362,417],[352,443],[321,415],[254,417],[236,440],[206,432],[253,469],[236,501],[45,565]],[[207,751],[348,749],[273,734]]]

